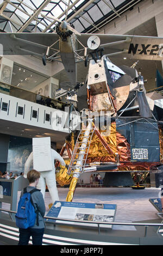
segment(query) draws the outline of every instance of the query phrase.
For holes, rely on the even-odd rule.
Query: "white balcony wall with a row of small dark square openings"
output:
[[[3,106],[6,106],[6,111],[2,110]],[[22,114],[18,114],[18,107],[23,108]],[[36,118],[33,117],[34,111]],[[46,115],[49,115],[49,121],[46,120]],[[61,124],[57,124],[59,118]],[[64,128],[66,118],[67,113],[59,109],[0,93],[0,119],[69,133],[68,129]]]

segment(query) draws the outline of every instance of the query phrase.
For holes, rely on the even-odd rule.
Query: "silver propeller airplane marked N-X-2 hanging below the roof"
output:
[[[42,15],[42,14],[41,14]],[[108,57],[127,55],[131,59],[161,60],[163,40],[159,37],[136,35],[81,34],[66,21],[52,15],[42,15],[58,22],[55,33],[1,33],[4,55],[34,55],[42,59],[43,65],[49,61],[64,65],[70,88],[77,84],[77,63],[87,66],[92,54],[98,51]],[[6,43],[8,42],[8,44]]]

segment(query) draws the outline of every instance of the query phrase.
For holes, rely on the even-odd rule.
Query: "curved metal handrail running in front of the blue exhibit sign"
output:
[[[16,214],[16,211],[11,211],[11,210],[6,210],[6,209],[2,209],[0,208],[0,211],[6,211],[9,212],[9,214]],[[89,223],[89,224],[97,224],[98,225],[98,233],[100,234],[100,224],[103,225],[131,225],[131,226],[145,226],[145,236],[147,234],[147,228],[152,226],[152,227],[163,227],[163,223],[129,223],[129,222],[102,222],[102,221],[80,221],[80,220],[70,220],[70,219],[66,219],[66,218],[56,218],[56,217],[49,217],[49,216],[44,216],[44,219],[48,219],[48,220],[57,220],[57,221],[67,221],[67,222],[79,222],[79,223]],[[13,221],[13,219],[12,219]],[[55,222],[55,224],[60,224]],[[65,223],[64,223],[65,224]],[[159,230],[158,229],[158,230]],[[158,233],[158,231],[157,231]]]

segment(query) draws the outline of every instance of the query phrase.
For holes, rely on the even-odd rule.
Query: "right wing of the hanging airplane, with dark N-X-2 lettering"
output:
[[[83,45],[87,44],[90,35],[99,37],[103,54],[125,54],[133,59],[162,60],[163,38],[137,35],[81,34],[77,38]],[[91,51],[91,50],[89,50]],[[88,52],[89,52],[88,51]],[[111,55],[110,55],[111,56]]]

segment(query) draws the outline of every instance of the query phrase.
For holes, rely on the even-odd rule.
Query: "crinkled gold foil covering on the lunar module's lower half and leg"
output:
[[[101,136],[103,133],[101,132]],[[109,148],[113,152],[109,154],[108,151],[104,148],[101,140],[96,135],[93,134],[92,141],[90,144],[89,153],[87,155],[87,163],[92,162],[115,162],[115,153],[118,153],[121,166],[118,167],[118,170],[147,170],[149,171],[153,163],[149,162],[130,162],[130,145],[127,142],[127,139],[116,131],[116,123],[111,123],[110,135],[102,136],[104,141],[108,143]],[[163,161],[163,134],[162,130],[159,130],[159,140],[160,140],[160,158]],[[72,133],[70,146],[74,148],[74,135]],[[78,155],[76,155],[77,157]],[[66,165],[70,164],[70,160],[65,160]],[[73,198],[73,193],[76,188],[78,179],[73,178],[73,174],[67,174],[67,168],[60,166],[59,172],[56,174],[56,180],[60,186],[70,184],[70,191],[68,192],[67,201],[71,202]]]

